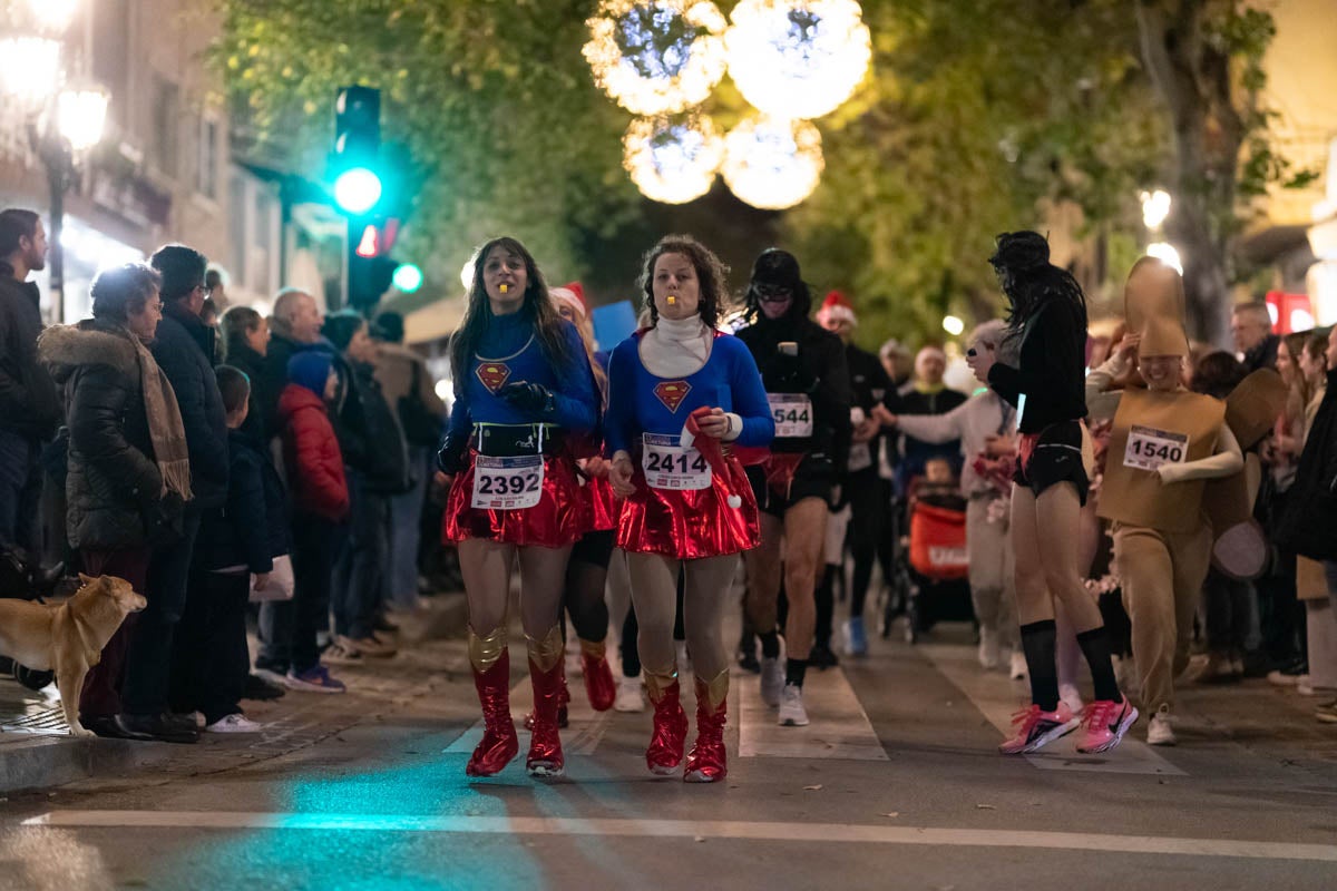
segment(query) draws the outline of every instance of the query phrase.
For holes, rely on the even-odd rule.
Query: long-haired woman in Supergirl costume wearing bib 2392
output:
[[[465,772],[491,776],[519,751],[511,721],[507,601],[520,560],[520,617],[533,684],[532,776],[563,771],[558,620],[571,546],[588,528],[574,449],[599,395],[575,326],[552,306],[520,242],[484,244],[451,341],[455,406],[437,456],[451,478],[443,538],[456,542],[469,602],[468,648],[484,733]]]

